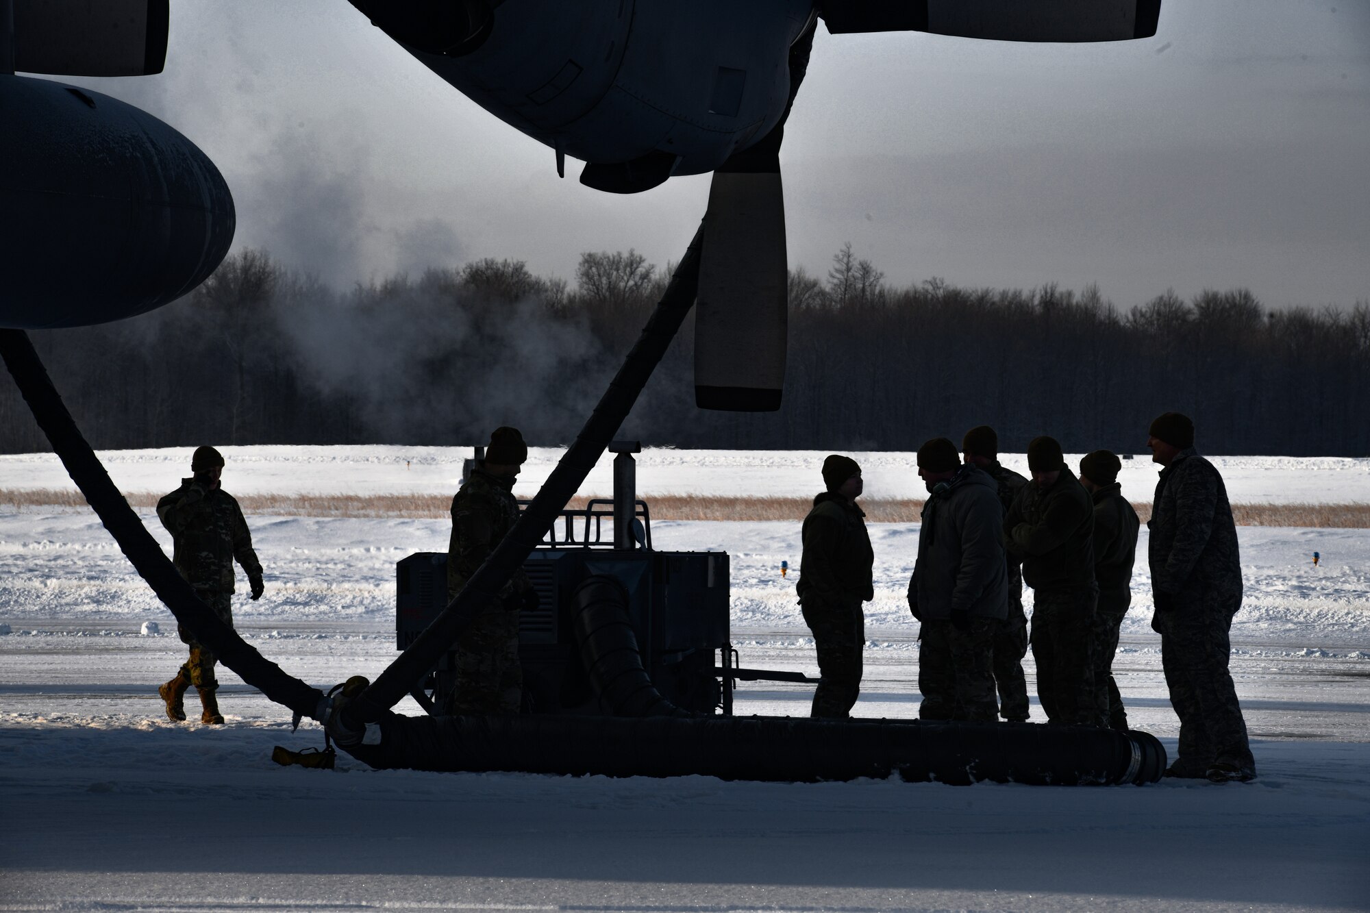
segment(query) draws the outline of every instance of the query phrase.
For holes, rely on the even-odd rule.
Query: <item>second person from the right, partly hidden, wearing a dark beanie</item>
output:
[[[1095,701],[1099,720],[1112,729],[1128,729],[1112,659],[1118,653],[1118,631],[1132,605],[1132,565],[1137,555],[1141,521],[1122,496],[1118,473],[1122,461],[1107,450],[1085,454],[1080,461],[1080,484],[1095,500],[1095,579],[1099,581],[1099,609],[1095,610]]]

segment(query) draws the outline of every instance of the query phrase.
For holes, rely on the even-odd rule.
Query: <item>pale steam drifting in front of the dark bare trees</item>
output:
[[[582,319],[537,297],[500,300],[452,271],[337,293],[304,285],[277,317],[301,374],[351,402],[377,440],[470,443],[516,425],[566,441],[604,382]]]

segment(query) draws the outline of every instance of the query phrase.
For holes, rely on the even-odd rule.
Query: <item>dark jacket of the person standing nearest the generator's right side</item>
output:
[[[871,568],[875,552],[866,532],[866,513],[841,495],[825,491],[814,498],[800,533],[800,602],[860,603],[875,598]]]

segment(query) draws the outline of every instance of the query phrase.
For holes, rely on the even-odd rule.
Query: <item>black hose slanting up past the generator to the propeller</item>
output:
[[[681,258],[666,293],[656,304],[641,336],[633,345],[623,366],[610,381],[589,421],[566,451],[560,462],[543,483],[543,488],[519,515],[508,535],[489,554],[462,592],[448,603],[437,618],[401,653],[375,681],[358,695],[337,721],[341,732],[358,732],[364,722],[379,720],[414,688],[452,648],[456,637],[522,566],[538,541],[552,528],[562,509],[575,495],[595,463],[604,454],[633,403],[647,385],[652,370],[666,354],[671,339],[695,304],[699,288],[699,249],[703,229],[695,233],[685,256]]]

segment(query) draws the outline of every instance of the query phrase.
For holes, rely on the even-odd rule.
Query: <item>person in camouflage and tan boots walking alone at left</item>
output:
[[[158,518],[175,541],[173,563],[181,576],[195,587],[195,592],[223,624],[233,625],[233,562],[242,565],[252,588],[252,598],[260,599],[264,589],[262,562],[252,551],[252,535],[242,518],[238,502],[219,487],[223,456],[212,447],[199,447],[190,458],[190,478],[158,502]],[[190,658],[177,672],[175,679],[158,688],[166,702],[170,720],[185,720],[184,696],[192,684],[200,694],[203,713],[200,721],[221,724],[214,677],[218,662],[195,632],[177,625],[177,633],[190,648]]]

